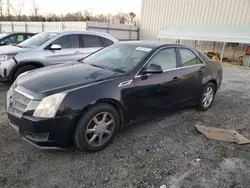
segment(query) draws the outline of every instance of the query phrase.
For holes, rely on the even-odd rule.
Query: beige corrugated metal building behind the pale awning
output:
[[[166,26],[250,27],[250,0],[142,0],[140,40],[158,40],[158,31]],[[202,41],[180,43],[219,53],[223,45]],[[237,60],[245,46],[228,43],[225,57]]]

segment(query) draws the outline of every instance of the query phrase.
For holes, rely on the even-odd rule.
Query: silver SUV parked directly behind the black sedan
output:
[[[16,46],[0,47],[0,80],[13,81],[29,70],[76,61],[115,42],[107,33],[42,32]]]

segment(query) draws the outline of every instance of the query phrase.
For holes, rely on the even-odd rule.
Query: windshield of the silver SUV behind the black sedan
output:
[[[43,45],[45,42],[47,42],[48,40],[50,40],[51,38],[57,35],[58,33],[54,33],[54,32],[39,33],[33,37],[30,37],[24,42],[21,42],[20,44],[18,44],[18,46],[23,47],[23,48],[36,48],[36,47]]]

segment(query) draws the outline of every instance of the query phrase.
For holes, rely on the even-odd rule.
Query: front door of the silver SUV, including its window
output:
[[[61,50],[49,50],[53,44],[61,45]],[[46,50],[46,62],[49,64],[59,64],[68,61],[76,61],[83,57],[83,51],[80,48],[78,34],[65,35],[52,42]]]

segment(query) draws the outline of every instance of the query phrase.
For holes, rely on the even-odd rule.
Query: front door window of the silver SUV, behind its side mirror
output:
[[[78,35],[66,35],[55,40],[53,44],[61,45],[62,49],[79,48]]]

